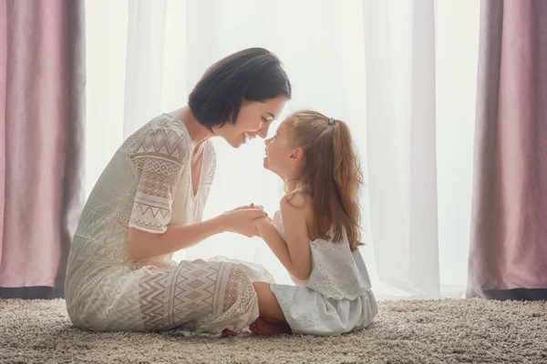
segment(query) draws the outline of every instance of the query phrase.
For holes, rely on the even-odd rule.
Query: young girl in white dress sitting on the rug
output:
[[[349,129],[299,111],[265,144],[264,167],[290,193],[273,219],[257,218],[255,225],[296,286],[255,282],[260,318],[249,329],[335,335],[366,328],[377,302],[357,248],[362,177]]]

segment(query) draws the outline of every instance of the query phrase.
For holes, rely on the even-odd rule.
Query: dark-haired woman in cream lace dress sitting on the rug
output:
[[[77,227],[67,267],[67,311],[93,330],[184,329],[220,335],[258,318],[259,266],[172,254],[214,234],[257,235],[262,209],[201,221],[215,170],[212,136],[232,147],[265,137],[291,98],[279,59],[246,49],[213,65],[188,106],[152,119],[123,143],[99,177]]]

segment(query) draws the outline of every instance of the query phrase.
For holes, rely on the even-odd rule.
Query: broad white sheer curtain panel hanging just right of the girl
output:
[[[434,1],[415,0],[398,15],[389,2],[367,3],[366,162],[377,272],[404,296],[437,298]]]

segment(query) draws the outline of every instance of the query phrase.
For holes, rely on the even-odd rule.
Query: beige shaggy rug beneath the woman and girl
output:
[[[365,331],[331,338],[185,339],[72,327],[65,302],[0,299],[2,363],[547,363],[547,302],[380,301]]]

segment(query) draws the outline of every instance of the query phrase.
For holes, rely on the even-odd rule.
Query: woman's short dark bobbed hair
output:
[[[243,49],[212,65],[188,97],[188,106],[201,125],[232,124],[243,100],[259,101],[285,96],[291,98],[289,78],[281,61],[263,48]]]

